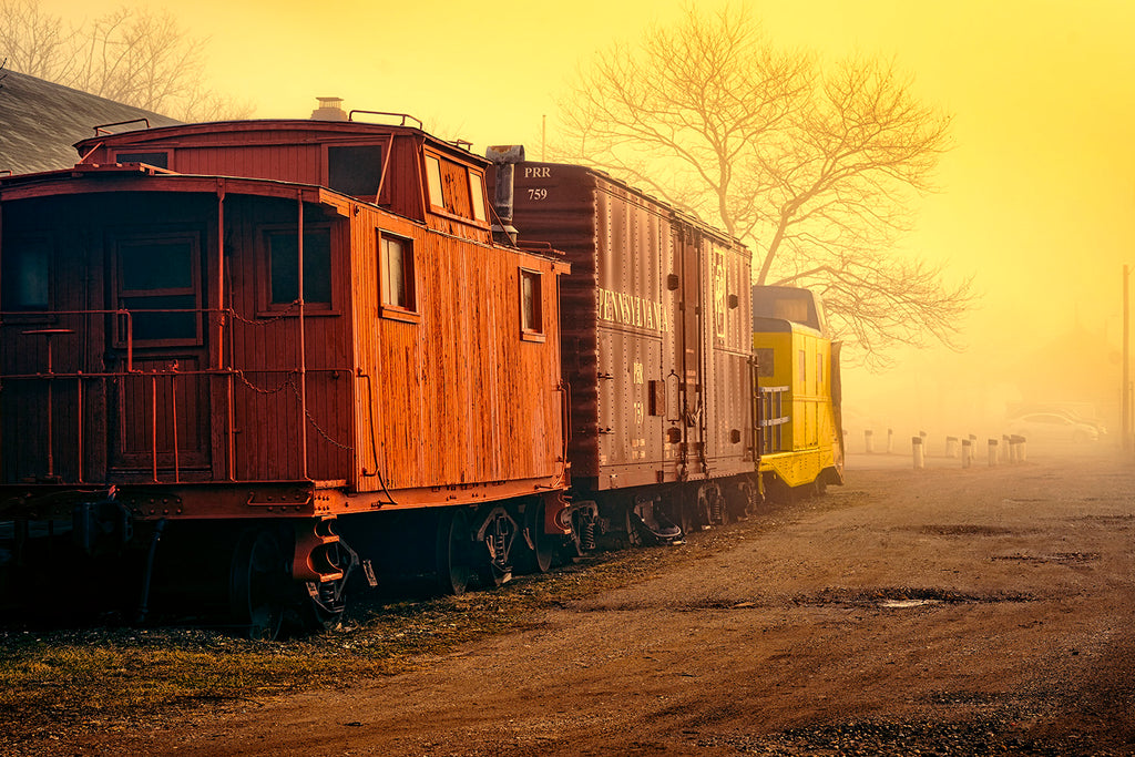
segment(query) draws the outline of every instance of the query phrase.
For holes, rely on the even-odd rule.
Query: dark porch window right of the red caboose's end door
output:
[[[271,304],[287,305],[300,298],[300,244],[295,229],[268,232],[268,266],[271,276]],[[331,305],[331,232],[328,228],[303,233],[304,305]]]

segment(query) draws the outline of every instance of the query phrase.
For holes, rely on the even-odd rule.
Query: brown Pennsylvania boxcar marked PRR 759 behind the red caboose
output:
[[[577,514],[595,503],[600,530],[634,540],[743,513],[759,495],[748,249],[599,171],[513,170],[520,239],[572,267],[561,286]]]

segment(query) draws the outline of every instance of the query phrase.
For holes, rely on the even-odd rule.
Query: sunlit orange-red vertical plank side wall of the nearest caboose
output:
[[[397,499],[398,489],[562,473],[555,264],[370,209],[354,226],[355,352],[369,377],[360,378],[356,395],[359,488],[385,483]],[[377,232],[413,245],[417,318],[410,321],[382,316]],[[543,277],[543,342],[521,338],[521,268]],[[448,495],[437,497],[440,504]]]

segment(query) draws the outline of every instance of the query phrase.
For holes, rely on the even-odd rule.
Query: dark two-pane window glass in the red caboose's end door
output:
[[[197,245],[194,235],[119,238],[118,340],[186,343],[200,338]]]

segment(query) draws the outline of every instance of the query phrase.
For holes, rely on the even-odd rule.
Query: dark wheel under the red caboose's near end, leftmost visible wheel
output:
[[[246,630],[250,639],[275,639],[284,621],[291,584],[279,539],[263,529],[246,530],[233,552],[229,577],[234,621]]]

